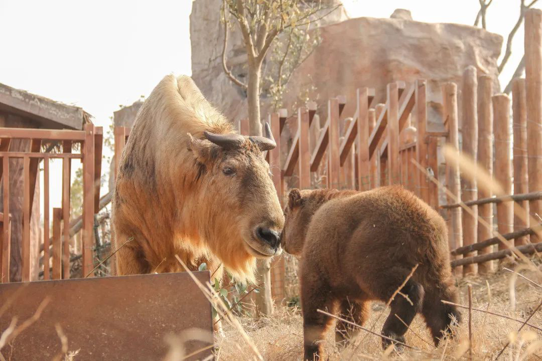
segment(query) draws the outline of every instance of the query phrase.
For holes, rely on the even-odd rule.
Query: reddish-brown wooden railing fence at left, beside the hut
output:
[[[10,262],[10,160],[23,160],[23,225],[22,225],[22,280],[31,280],[30,264],[40,259],[40,254],[33,254],[30,245],[30,218],[34,204],[34,190],[39,175],[38,166],[43,161],[43,237],[37,249],[44,251],[43,278],[61,279],[69,278],[69,241],[70,238],[70,169],[72,159],[80,159],[83,166],[83,214],[82,221],[82,273],[86,275],[93,267],[94,248],[94,214],[98,212],[100,196],[101,154],[102,154],[102,128],[93,124],[85,124],[84,130],[51,130],[51,129],[25,129],[0,128],[0,178],[3,187],[3,213],[2,232],[0,232],[0,272],[2,282],[9,282]],[[12,139],[29,139],[29,152],[10,152]],[[61,153],[42,152],[42,145],[51,145],[57,142],[62,147]],[[73,153],[72,145],[79,143],[80,152]],[[62,183],[61,208],[50,207],[50,172],[49,162],[52,159],[62,159],[62,174],[53,175],[53,181]],[[50,224],[52,220],[52,237]],[[65,226],[68,225],[68,226]],[[49,254],[52,254],[52,263]],[[37,274],[35,275],[37,277]]]

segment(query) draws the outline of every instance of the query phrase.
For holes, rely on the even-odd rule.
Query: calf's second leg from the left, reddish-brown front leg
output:
[[[370,314],[368,301],[344,299],[339,305],[339,317],[363,326]],[[359,333],[356,326],[337,320],[335,325],[335,346],[344,347]]]

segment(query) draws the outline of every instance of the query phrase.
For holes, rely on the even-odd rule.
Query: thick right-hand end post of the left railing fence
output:
[[[83,143],[83,277],[94,268],[94,124],[85,124]],[[125,137],[123,138],[125,140]],[[115,146],[116,148],[116,146]],[[92,277],[92,274],[90,275]]]

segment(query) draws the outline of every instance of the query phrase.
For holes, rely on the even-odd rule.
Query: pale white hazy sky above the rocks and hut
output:
[[[343,3],[350,17],[405,8],[416,21],[468,25],[479,9],[478,0]],[[164,75],[191,74],[191,7],[191,0],[0,0],[0,83],[82,107],[106,129],[113,111],[148,95]],[[519,1],[494,0],[487,30],[506,43],[518,15]],[[512,50],[502,87],[523,54],[523,27]],[[51,165],[51,174],[59,166]],[[51,206],[60,206],[59,198],[60,182],[51,181]]]

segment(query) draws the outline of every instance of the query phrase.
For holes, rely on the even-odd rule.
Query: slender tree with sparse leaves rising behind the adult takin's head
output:
[[[294,70],[309,56],[318,43],[311,39],[309,25],[319,21],[339,5],[330,6],[322,0],[223,0],[224,48],[222,67],[230,80],[246,90],[250,135],[261,135],[260,96],[262,80],[275,107],[280,106],[286,84]],[[228,33],[233,16],[243,36],[248,61],[248,82],[238,79],[228,68]],[[262,65],[273,48],[269,75],[262,77]],[[270,262],[258,262],[260,293],[256,304],[260,314],[273,312],[270,285]]]

